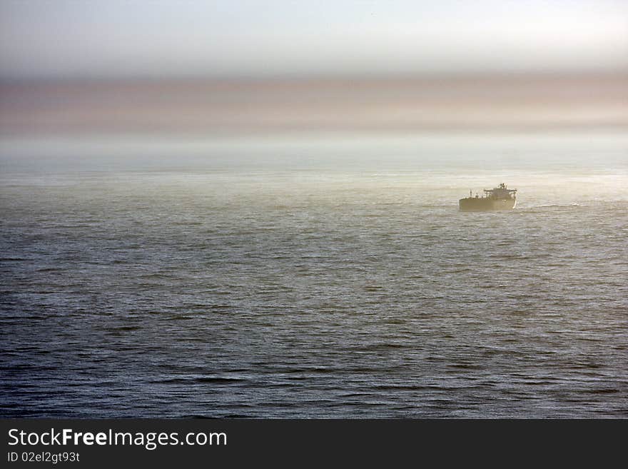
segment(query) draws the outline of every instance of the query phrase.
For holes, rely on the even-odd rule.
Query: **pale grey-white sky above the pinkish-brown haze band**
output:
[[[2,0],[2,76],[628,69],[628,1]]]

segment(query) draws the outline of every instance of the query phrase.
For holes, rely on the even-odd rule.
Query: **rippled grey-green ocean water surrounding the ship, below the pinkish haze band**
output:
[[[628,145],[499,142],[5,142],[0,415],[628,418]]]

